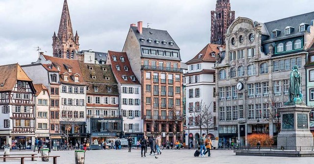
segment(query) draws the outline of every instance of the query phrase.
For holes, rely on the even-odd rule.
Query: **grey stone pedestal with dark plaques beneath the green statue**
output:
[[[277,138],[277,148],[287,150],[312,150],[313,135],[309,127],[311,107],[292,105],[279,108],[281,131]],[[300,147],[301,146],[301,147]]]

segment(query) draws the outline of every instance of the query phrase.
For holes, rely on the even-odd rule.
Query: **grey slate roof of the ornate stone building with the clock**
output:
[[[283,18],[283,19],[275,20],[275,21],[271,21],[271,22],[266,22],[264,24],[265,24],[267,31],[268,31],[270,36],[264,41],[268,41],[270,39],[278,40],[278,39],[283,39],[285,37],[288,38],[291,36],[296,36],[298,34],[303,34],[304,32],[299,32],[299,25],[301,23],[313,24],[313,23],[311,23],[312,20],[314,20],[314,12],[296,15],[296,16],[292,16],[292,17],[288,17],[288,18]],[[294,30],[291,31],[291,33],[286,36],[285,35],[285,28],[287,26],[294,27]],[[274,29],[281,30],[280,34],[277,35],[276,38],[272,38],[272,30],[274,30]]]

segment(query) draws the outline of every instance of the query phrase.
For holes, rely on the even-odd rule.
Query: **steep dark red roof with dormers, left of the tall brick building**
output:
[[[113,61],[112,56],[116,56],[117,61]],[[124,57],[124,62],[121,61],[121,57]],[[129,58],[126,52],[108,51],[108,59],[111,62],[113,74],[116,76],[116,79],[121,84],[140,85],[139,81],[137,80],[136,76],[134,75],[131,69]],[[116,68],[117,65],[120,66],[120,70],[117,70]],[[128,67],[128,71],[125,70],[125,67]],[[126,75],[128,77],[128,80],[124,80],[122,77],[123,75]],[[135,77],[135,81],[132,81],[131,76]]]

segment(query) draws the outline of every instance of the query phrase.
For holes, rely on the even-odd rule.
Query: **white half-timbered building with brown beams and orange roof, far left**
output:
[[[30,149],[35,140],[32,80],[19,64],[0,66],[0,142]]]

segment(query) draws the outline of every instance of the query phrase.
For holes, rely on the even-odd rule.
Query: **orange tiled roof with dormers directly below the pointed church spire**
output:
[[[85,85],[85,81],[84,81],[83,77],[81,77],[82,72],[79,68],[78,60],[63,59],[63,58],[57,58],[57,57],[52,57],[52,56],[48,56],[48,55],[43,55],[43,56],[45,57],[46,60],[49,60],[52,62],[55,69],[57,69],[56,66],[60,67],[60,82],[61,83]],[[69,72],[69,70],[66,68],[66,66],[71,67],[72,72]],[[68,78],[69,79],[68,81],[64,81],[64,79],[63,79],[62,74],[64,72],[67,72],[70,75]],[[71,75],[75,75],[76,73],[78,73],[78,75],[80,76],[78,78],[79,82],[74,82],[74,77],[71,76]]]

